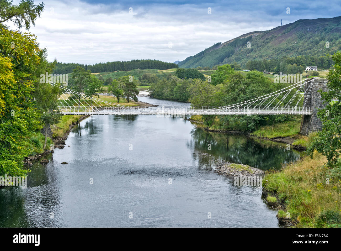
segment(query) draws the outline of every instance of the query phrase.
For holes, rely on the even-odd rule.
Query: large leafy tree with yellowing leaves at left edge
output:
[[[29,138],[41,129],[32,95],[40,51],[30,34],[0,28],[0,176],[27,173],[23,158],[31,153]]]

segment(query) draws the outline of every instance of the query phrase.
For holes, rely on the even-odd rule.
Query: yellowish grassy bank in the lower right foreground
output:
[[[263,187],[268,196],[276,196],[286,206],[278,217],[288,215],[298,227],[341,227],[340,161],[326,167],[326,158],[315,152],[313,159],[306,157],[267,173]]]

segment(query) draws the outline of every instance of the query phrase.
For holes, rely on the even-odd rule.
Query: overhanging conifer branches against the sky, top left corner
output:
[[[0,1],[0,28],[7,28],[3,23],[11,20],[19,29],[25,26],[29,29],[32,24],[35,26],[35,20],[40,17],[44,10],[44,3],[34,5],[32,0],[21,0],[19,4],[14,5],[13,1]]]

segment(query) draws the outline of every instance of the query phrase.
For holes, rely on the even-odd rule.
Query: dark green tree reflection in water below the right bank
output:
[[[191,135],[192,147],[199,152],[263,170],[280,169],[281,163],[290,163],[300,158],[297,151],[286,150],[286,145],[281,143],[255,140],[242,135],[212,133],[200,127],[194,127]],[[208,150],[208,144],[211,144],[211,150]],[[205,160],[204,164],[207,164]]]

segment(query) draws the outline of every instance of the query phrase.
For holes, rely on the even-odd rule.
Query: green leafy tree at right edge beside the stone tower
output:
[[[323,128],[307,149],[310,157],[313,156],[314,150],[326,156],[329,166],[337,163],[341,151],[341,102],[332,101],[341,100],[341,52],[338,51],[331,58],[335,61],[335,69],[327,74],[328,92],[321,92],[327,106],[317,113]]]

